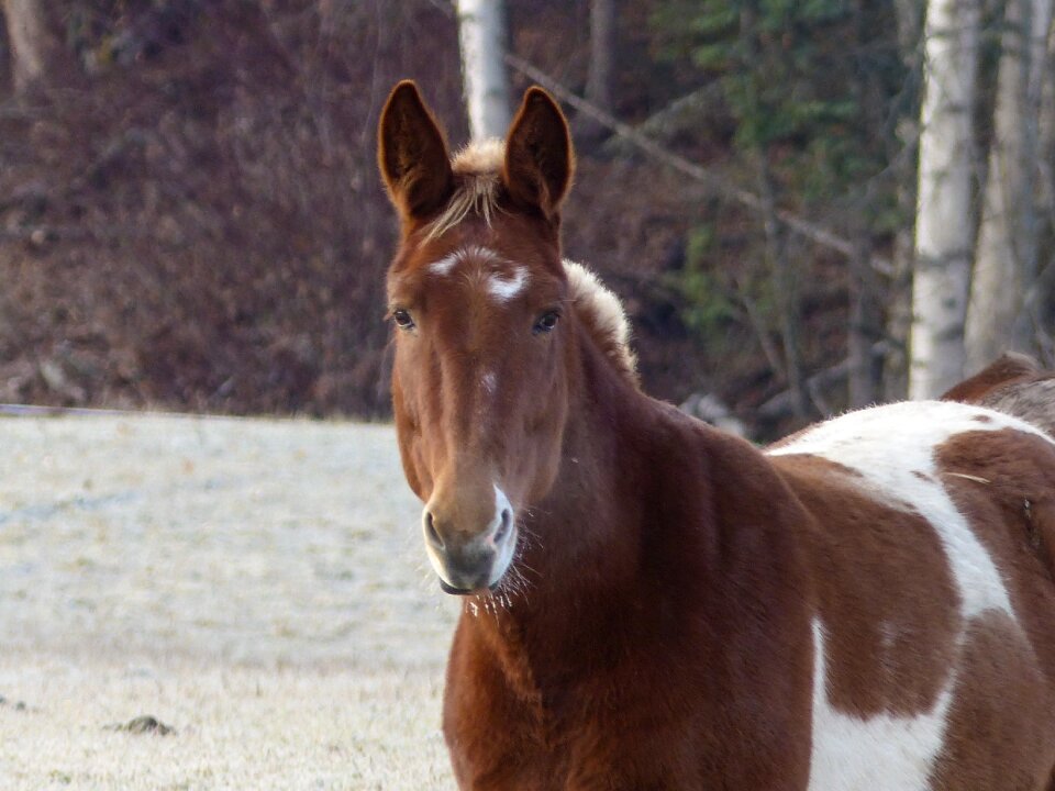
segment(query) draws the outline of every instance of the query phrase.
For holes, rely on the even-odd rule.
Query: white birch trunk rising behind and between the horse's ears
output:
[[[509,76],[503,0],[457,0],[462,78],[474,141],[502,137],[509,129]]]

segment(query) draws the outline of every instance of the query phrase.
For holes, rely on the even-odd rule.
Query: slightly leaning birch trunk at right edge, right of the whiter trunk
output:
[[[1037,275],[1034,199],[1052,0],[1008,0],[992,147],[965,333],[967,371],[1008,349],[1032,350],[1026,294]]]

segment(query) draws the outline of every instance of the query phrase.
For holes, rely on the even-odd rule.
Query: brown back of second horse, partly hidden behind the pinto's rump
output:
[[[1028,355],[1007,352],[941,398],[1017,415],[1055,437],[1055,374]]]

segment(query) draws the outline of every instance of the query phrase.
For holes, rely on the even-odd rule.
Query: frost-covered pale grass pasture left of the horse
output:
[[[389,426],[4,417],[0,447],[0,788],[453,787],[457,602]]]

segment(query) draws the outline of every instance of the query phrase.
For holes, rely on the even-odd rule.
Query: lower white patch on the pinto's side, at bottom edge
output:
[[[824,627],[813,620],[813,746],[809,791],[925,791],[945,737],[954,673],[934,709],[862,720],[828,699]]]

